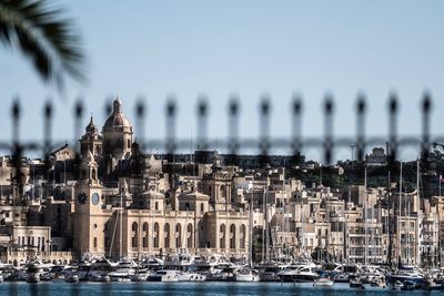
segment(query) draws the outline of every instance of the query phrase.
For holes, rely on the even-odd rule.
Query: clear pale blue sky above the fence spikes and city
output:
[[[42,104],[52,98],[54,135],[73,134],[72,105],[88,101],[101,126],[104,99],[119,94],[134,123],[133,104],[143,94],[149,105],[145,133],[164,136],[165,96],[180,104],[178,134],[195,134],[195,104],[211,103],[209,133],[225,137],[226,103],[242,103],[241,134],[259,131],[259,98],[273,99],[275,135],[290,134],[289,104],[304,98],[305,135],[322,134],[325,93],[336,102],[336,134],[354,134],[356,94],[370,101],[367,131],[386,133],[386,101],[402,99],[402,133],[420,134],[418,102],[430,90],[435,110],[432,131],[442,132],[444,116],[444,1],[67,1],[89,59],[85,86],[68,84],[65,99],[44,85],[19,54],[0,51],[0,140],[10,137],[10,103],[26,105],[24,140],[41,139]],[[88,116],[83,124],[87,125]],[[83,129],[83,126],[82,126]],[[404,152],[407,155],[408,152]],[[2,153],[3,154],[3,153]],[[404,157],[406,157],[404,155]],[[315,151],[309,156],[319,159]],[[336,154],[350,157],[349,151]]]

